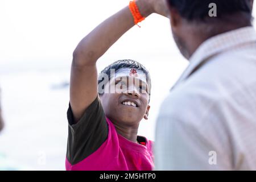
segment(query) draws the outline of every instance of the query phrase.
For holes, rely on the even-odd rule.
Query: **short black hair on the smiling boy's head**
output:
[[[150,77],[150,73],[147,71],[147,69],[139,62],[131,60],[131,59],[124,59],[124,60],[118,60],[115,61],[114,63],[108,65],[108,67],[104,68],[100,74],[106,74],[108,75],[108,78],[110,80],[110,70],[114,69],[115,72],[118,71],[118,69],[121,68],[134,68],[134,69],[138,69],[140,71],[142,71],[146,77],[147,77],[147,84],[148,84],[148,94],[150,97],[150,91],[151,91],[151,77]],[[102,78],[103,80],[104,78]],[[101,79],[98,80],[98,84],[100,84],[100,82],[102,81]],[[104,85],[103,85],[104,86]],[[104,88],[102,88],[104,89]],[[99,93],[100,95],[102,95],[102,93]]]

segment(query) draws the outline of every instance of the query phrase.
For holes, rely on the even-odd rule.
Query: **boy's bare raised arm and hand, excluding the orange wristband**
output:
[[[144,17],[151,13],[167,16],[167,7],[160,1],[163,2],[137,0],[136,3]],[[79,121],[86,108],[97,97],[96,61],[133,26],[133,16],[129,6],[126,6],[97,26],[76,47],[73,52],[70,87],[70,104],[75,122]]]

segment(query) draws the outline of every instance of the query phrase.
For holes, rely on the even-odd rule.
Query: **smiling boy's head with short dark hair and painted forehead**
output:
[[[98,80],[105,114],[116,125],[135,126],[147,119],[150,90],[150,74],[134,60],[115,61],[101,71]]]

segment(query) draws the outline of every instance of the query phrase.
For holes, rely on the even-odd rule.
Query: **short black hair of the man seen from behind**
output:
[[[251,19],[250,0],[167,0],[169,6],[174,7],[181,17],[187,20],[205,20],[209,17],[209,5],[217,6],[217,17],[244,12]]]

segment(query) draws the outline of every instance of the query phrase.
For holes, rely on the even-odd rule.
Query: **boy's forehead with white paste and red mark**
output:
[[[140,80],[147,84],[147,76],[146,74],[135,68],[122,68],[118,69],[117,72],[113,72],[114,75],[110,75],[111,80],[116,80],[119,78],[129,78],[133,80]]]

